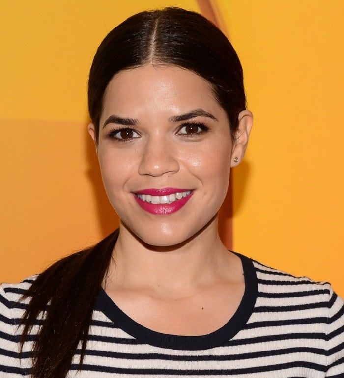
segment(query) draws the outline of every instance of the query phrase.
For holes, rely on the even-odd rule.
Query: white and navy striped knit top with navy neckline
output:
[[[101,289],[82,369],[79,346],[67,377],[343,378],[344,303],[330,284],[239,256],[243,299],[229,322],[208,335],[149,330]],[[25,309],[19,298],[33,279],[0,287],[1,378],[30,377],[33,336],[19,359],[18,323]]]

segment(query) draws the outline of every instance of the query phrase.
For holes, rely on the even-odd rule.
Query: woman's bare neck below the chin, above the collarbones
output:
[[[233,255],[220,240],[217,219],[186,242],[165,247],[145,244],[121,225],[107,287],[192,287],[227,276]]]

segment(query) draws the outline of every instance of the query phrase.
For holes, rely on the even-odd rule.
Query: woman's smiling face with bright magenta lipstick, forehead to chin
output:
[[[97,153],[121,222],[156,246],[182,243],[206,225],[216,232],[233,150],[241,158],[244,147],[233,145],[208,82],[145,65],[116,74],[103,105]],[[89,131],[94,138],[93,125]]]

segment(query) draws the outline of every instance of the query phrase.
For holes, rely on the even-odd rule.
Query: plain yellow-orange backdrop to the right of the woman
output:
[[[255,115],[234,248],[344,296],[344,1],[222,1]]]

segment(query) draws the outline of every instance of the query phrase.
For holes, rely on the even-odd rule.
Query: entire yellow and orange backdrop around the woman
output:
[[[1,1],[0,281],[39,272],[118,224],[86,132],[88,70],[116,24],[168,5],[216,21],[244,68],[255,122],[232,172],[225,242],[344,296],[341,0]]]

